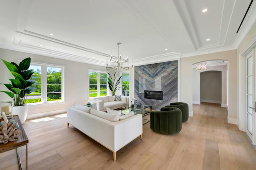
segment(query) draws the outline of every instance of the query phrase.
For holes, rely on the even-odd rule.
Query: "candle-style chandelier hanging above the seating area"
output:
[[[123,68],[125,70],[129,70],[129,68],[133,67],[133,64],[131,66],[129,66],[128,56],[126,58],[122,59],[122,56],[121,56],[120,51],[119,51],[119,45],[120,44],[121,43],[117,43],[117,45],[118,45],[118,57],[117,57],[117,59],[116,60],[113,59],[112,58],[112,54],[110,55],[110,62],[111,63],[116,63],[116,66],[108,67],[108,59],[107,59],[106,70],[110,70],[112,68],[116,68],[116,69],[118,68],[118,70],[119,70],[119,68]],[[124,66],[124,65],[126,65],[126,66]]]

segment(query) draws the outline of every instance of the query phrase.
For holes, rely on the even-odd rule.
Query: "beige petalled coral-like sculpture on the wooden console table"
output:
[[[9,141],[16,141],[20,135],[19,129],[16,129],[16,123],[9,121],[6,124],[5,121],[1,121],[0,125],[0,144],[6,144]]]

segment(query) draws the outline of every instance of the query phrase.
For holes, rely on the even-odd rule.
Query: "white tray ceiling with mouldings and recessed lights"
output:
[[[256,21],[255,0],[238,33],[251,0],[0,2],[0,48],[102,66],[118,42],[134,65],[236,49]]]

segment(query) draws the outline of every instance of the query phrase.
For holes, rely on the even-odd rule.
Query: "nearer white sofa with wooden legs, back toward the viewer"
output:
[[[140,137],[142,140],[141,114],[134,115],[134,113],[128,113],[129,115],[118,116],[96,109],[90,109],[90,111],[88,111],[88,108],[86,108],[86,112],[86,110],[82,111],[76,108],[68,107],[68,126],[69,124],[73,125],[76,129],[111,150],[113,152],[114,161],[116,160],[116,152],[118,150],[137,137]],[[102,115],[104,118],[102,118]],[[109,117],[115,120],[107,120]]]

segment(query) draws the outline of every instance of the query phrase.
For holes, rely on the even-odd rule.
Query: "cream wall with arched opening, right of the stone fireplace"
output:
[[[180,102],[185,102],[189,106],[190,115],[193,114],[193,68],[192,65],[202,61],[211,61],[211,60],[226,60],[229,61],[229,79],[228,84],[228,121],[237,118],[237,79],[236,79],[236,50],[223,51],[218,53],[210,53],[205,55],[197,55],[193,57],[184,57],[180,59]]]

